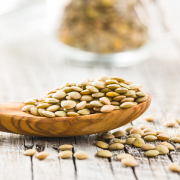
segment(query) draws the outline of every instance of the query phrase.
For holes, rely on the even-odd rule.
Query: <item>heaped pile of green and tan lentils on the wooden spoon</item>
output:
[[[43,97],[29,99],[22,111],[49,118],[80,116],[130,108],[147,99],[141,85],[120,77],[102,76],[67,83]]]

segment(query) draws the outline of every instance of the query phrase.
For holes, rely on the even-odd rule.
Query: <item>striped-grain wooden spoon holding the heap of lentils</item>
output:
[[[24,103],[0,104],[0,131],[45,137],[68,137],[106,132],[128,124],[142,115],[151,103],[151,96],[136,106],[77,117],[46,118],[22,112]]]

